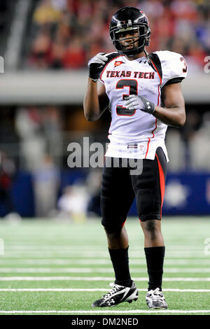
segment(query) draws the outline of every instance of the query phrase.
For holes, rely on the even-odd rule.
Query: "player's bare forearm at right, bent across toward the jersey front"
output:
[[[183,127],[186,122],[186,111],[181,107],[174,107],[173,109],[166,109],[162,106],[155,106],[153,112],[155,118],[160,119],[162,123],[172,127]]]

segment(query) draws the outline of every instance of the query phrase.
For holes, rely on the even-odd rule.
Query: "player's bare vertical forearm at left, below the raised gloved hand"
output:
[[[88,121],[97,120],[101,113],[99,107],[99,97],[97,94],[97,82],[88,78],[87,91],[83,102],[85,118]]]

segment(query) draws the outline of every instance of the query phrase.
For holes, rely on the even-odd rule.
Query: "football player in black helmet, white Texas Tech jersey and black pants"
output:
[[[112,17],[110,38],[117,52],[100,52],[88,62],[89,79],[84,99],[87,120],[97,120],[109,108],[109,148],[101,188],[102,225],[116,280],[113,288],[92,307],[109,307],[138,299],[130,276],[127,213],[136,197],[144,232],[148,269],[149,308],[167,309],[162,293],[165,244],[161,232],[162,202],[167,174],[167,126],[182,127],[186,120],[181,80],[187,66],[182,55],[170,51],[151,54],[151,29],[145,13],[124,7]],[[115,160],[118,160],[118,166]],[[142,171],[132,174],[130,162],[141,160]]]

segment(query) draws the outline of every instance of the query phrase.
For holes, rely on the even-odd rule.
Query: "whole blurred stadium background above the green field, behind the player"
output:
[[[99,216],[100,169],[70,169],[69,143],[105,144],[110,113],[83,116],[87,61],[114,50],[111,15],[127,1],[0,0],[0,216]],[[187,121],[169,127],[164,215],[210,213],[210,3],[207,0],[129,1],[151,22],[151,46],[180,52]],[[205,62],[206,61],[206,62]],[[206,68],[206,69],[204,69]],[[67,214],[66,214],[67,213]],[[135,205],[130,215],[135,216]]]

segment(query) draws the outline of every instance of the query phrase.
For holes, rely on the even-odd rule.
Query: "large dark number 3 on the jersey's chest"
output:
[[[116,89],[124,89],[124,87],[130,87],[130,92],[129,94],[123,94],[123,100],[125,100],[125,97],[129,96],[130,94],[138,94],[137,80],[128,80],[128,79],[119,80],[118,83],[116,84]],[[128,110],[126,109],[126,107],[123,107],[123,105],[117,105],[116,111],[118,116],[133,116],[134,113],[136,113],[136,110]]]

